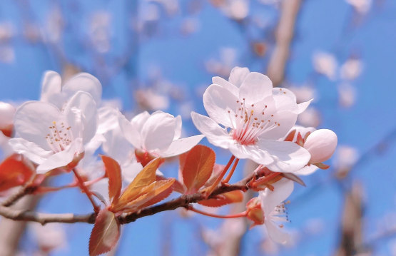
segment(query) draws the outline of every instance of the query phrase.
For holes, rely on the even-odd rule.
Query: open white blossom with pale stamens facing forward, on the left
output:
[[[14,126],[21,138],[12,138],[11,146],[39,165],[37,173],[46,173],[81,159],[83,144],[98,127],[96,102],[83,91],[68,101],[64,112],[51,103],[28,101],[16,110]]]

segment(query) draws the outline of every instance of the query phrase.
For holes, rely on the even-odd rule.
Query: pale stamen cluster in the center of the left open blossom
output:
[[[73,142],[73,133],[71,133],[71,126],[65,127],[65,123],[56,124],[52,122],[49,126],[49,133],[46,135],[46,140],[51,149],[58,153]]]

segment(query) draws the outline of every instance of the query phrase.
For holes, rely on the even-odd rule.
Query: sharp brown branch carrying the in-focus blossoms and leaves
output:
[[[252,172],[248,177],[240,180],[238,183],[234,183],[232,185],[221,184],[214,190],[214,192],[209,196],[209,198],[215,198],[216,195],[220,195],[226,192],[242,190],[247,191],[249,189],[248,183],[253,178],[260,178],[260,175],[256,175]],[[21,198],[23,193],[17,193]],[[193,195],[181,195],[179,198],[170,200],[166,203],[162,203],[159,205],[154,205],[148,208],[143,208],[142,210],[138,210],[135,213],[131,213],[128,215],[121,215],[118,217],[121,224],[127,224],[129,222],[134,222],[141,217],[146,217],[150,215],[154,215],[156,213],[161,213],[166,210],[175,210],[176,208],[186,207],[191,203],[197,203],[200,200],[205,200],[205,196],[202,193],[195,193]],[[10,200],[13,202],[13,200]],[[63,223],[76,223],[76,222],[87,222],[93,224],[95,222],[95,213],[87,214],[87,215],[76,215],[73,213],[61,213],[61,214],[51,214],[51,213],[34,213],[26,210],[14,210],[5,206],[0,206],[0,215],[9,218],[11,220],[24,220],[24,221],[33,221],[39,222],[42,225],[49,222],[63,222]]]

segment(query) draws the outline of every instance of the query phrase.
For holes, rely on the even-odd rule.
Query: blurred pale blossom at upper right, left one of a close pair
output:
[[[337,71],[337,60],[330,53],[317,52],[313,55],[313,67],[315,71],[335,80]]]

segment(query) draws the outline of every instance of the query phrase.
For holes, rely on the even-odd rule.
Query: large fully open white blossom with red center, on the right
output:
[[[308,163],[310,154],[295,143],[277,140],[288,133],[309,103],[297,104],[287,89],[273,90],[267,76],[237,67],[229,81],[214,77],[203,94],[209,117],[195,112],[191,116],[213,145],[275,172],[293,172]]]

